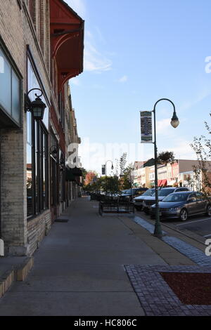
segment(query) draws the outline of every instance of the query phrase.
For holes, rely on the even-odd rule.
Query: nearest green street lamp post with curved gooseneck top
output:
[[[168,98],[160,98],[160,100],[158,100],[155,103],[154,108],[153,108],[153,114],[154,114],[154,154],[155,154],[155,230],[154,230],[154,235],[157,236],[157,237],[162,236],[162,229],[161,229],[161,225],[160,225],[160,213],[159,213],[159,205],[158,205],[158,149],[157,149],[157,144],[156,144],[155,108],[156,108],[156,105],[158,104],[158,102],[163,101],[163,100],[169,101],[170,103],[172,103],[172,105],[174,107],[174,112],[173,112],[173,116],[172,116],[171,125],[174,128],[177,128],[177,126],[179,125],[179,119],[177,118],[174,103],[171,100],[169,100]]]

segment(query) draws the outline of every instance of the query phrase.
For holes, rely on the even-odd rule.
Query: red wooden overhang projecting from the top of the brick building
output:
[[[58,91],[83,71],[84,20],[63,0],[50,0],[51,58],[56,60]]]

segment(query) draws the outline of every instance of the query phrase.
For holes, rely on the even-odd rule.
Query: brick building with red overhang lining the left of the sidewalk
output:
[[[68,80],[83,71],[84,20],[62,0],[4,0],[0,18],[0,235],[30,256],[73,198]],[[26,111],[39,95],[43,119]]]

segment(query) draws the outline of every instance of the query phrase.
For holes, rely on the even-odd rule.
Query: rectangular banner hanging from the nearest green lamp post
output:
[[[141,115],[141,143],[153,143],[152,112],[140,111]]]

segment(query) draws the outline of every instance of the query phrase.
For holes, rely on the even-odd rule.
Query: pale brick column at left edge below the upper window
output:
[[[6,253],[28,254],[25,143],[22,129],[1,129],[1,237]]]

